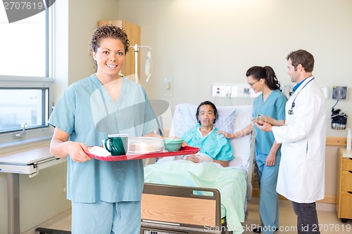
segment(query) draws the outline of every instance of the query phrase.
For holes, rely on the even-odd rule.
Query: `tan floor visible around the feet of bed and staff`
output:
[[[260,223],[258,197],[253,197],[251,202],[248,203],[247,210],[249,216],[243,223],[245,228],[244,234],[253,233],[252,229],[257,228]],[[348,220],[347,223],[342,223],[340,219],[337,219],[334,204],[317,203],[317,210],[321,233],[352,233],[352,220]],[[294,231],[294,228],[296,228],[296,215],[291,207],[291,202],[287,200],[279,200],[279,225],[279,231],[277,231],[276,234],[297,233]],[[70,210],[39,226],[43,228],[70,230]],[[37,234],[34,229],[28,230],[23,234]]]

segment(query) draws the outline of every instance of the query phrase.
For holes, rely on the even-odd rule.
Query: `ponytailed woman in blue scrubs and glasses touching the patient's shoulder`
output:
[[[279,90],[280,84],[272,67],[249,68],[246,72],[247,82],[254,92],[262,92],[253,102],[253,118],[266,115],[284,123],[287,97]],[[281,144],[276,143],[272,132],[259,131],[249,124],[241,131],[227,134],[227,138],[246,136],[256,129],[256,164],[258,172],[259,215],[261,225],[253,229],[255,233],[272,234],[279,228],[279,198],[276,192],[277,174],[281,159]]]

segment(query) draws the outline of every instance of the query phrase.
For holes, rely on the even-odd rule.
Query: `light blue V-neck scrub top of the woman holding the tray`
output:
[[[70,134],[70,141],[102,145],[108,134],[142,136],[158,129],[158,120],[144,89],[122,78],[114,102],[95,74],[70,85],[55,105],[49,124]],[[73,162],[68,157],[67,197],[73,202],[139,201],[142,160]]]

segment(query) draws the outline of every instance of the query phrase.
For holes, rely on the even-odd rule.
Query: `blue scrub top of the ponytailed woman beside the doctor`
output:
[[[263,94],[260,94],[253,102],[253,118],[260,115],[267,115],[277,120],[285,119],[285,105],[287,97],[279,91],[279,89],[273,90],[268,98],[263,101]],[[272,144],[275,141],[274,134],[271,131],[260,131],[255,126],[256,131],[256,152],[268,155]],[[281,148],[281,146],[280,146]],[[281,150],[277,150],[276,155],[281,155]]]

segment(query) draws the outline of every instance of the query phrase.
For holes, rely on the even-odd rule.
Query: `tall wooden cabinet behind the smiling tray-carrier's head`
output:
[[[134,46],[135,44],[141,44],[141,27],[139,25],[134,25],[132,22],[128,22],[126,20],[99,20],[98,26],[111,24],[118,27],[122,27],[123,30],[127,33],[128,40],[130,41],[130,45]],[[140,63],[140,57],[138,56],[138,64]],[[125,77],[134,74],[135,65],[134,65],[134,49],[132,47],[129,48],[129,51],[126,54],[125,64],[123,65],[121,73],[125,75]],[[139,67],[138,67],[139,71]],[[138,72],[139,73],[139,72]],[[138,77],[140,77],[138,75]],[[135,82],[134,76],[127,77],[130,78],[133,82]]]

